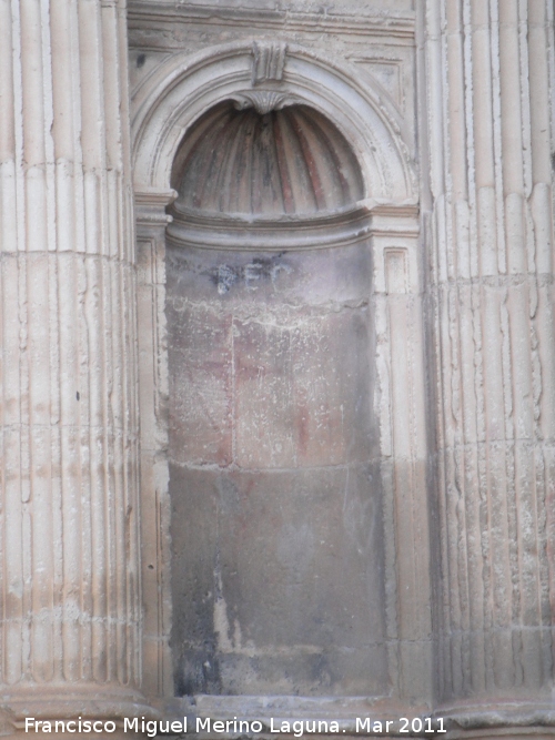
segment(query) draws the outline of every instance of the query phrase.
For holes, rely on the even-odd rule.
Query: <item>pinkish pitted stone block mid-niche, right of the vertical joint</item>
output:
[[[291,324],[236,321],[235,444],[240,467],[363,462],[370,454],[367,307]],[[346,314],[346,315],[345,315]]]

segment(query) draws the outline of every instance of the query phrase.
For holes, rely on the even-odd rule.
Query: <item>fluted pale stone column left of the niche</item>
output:
[[[117,717],[141,675],[125,7],[0,0],[0,34],[2,704]]]

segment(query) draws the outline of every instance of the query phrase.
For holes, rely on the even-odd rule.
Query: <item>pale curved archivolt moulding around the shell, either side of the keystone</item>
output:
[[[261,89],[260,75],[253,74],[260,48],[255,41],[234,42],[174,55],[144,81],[132,101],[137,193],[168,192],[175,153],[190,126],[215,104]],[[264,92],[314,108],[343,133],[360,162],[366,197],[415,202],[416,179],[403,122],[377,89],[363,87],[346,64],[302,47],[280,47],[280,74],[264,75]]]

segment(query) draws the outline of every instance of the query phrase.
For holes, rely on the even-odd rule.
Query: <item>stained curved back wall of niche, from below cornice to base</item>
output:
[[[180,692],[384,691],[367,245],[168,262]]]

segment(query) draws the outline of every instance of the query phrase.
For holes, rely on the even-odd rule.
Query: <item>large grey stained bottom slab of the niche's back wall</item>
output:
[[[172,466],[170,486],[180,692],[386,690],[375,468]]]

